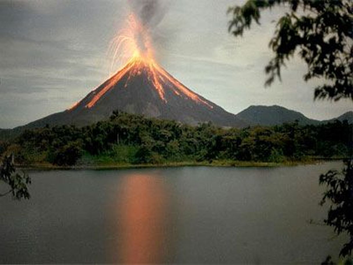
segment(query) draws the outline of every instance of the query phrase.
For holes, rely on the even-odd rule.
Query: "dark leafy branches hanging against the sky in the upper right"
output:
[[[248,0],[229,8],[233,18],[229,31],[242,36],[261,11],[275,5],[288,6],[276,25],[269,47],[274,57],[265,67],[266,86],[281,80],[281,69],[296,52],[307,64],[304,80],[323,78],[315,88],[315,99],[353,100],[353,1],[351,0]]]

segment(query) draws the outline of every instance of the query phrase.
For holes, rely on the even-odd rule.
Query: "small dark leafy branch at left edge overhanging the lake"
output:
[[[12,198],[16,200],[30,198],[27,185],[31,183],[31,178],[25,173],[23,173],[23,175],[16,173],[13,163],[13,155],[6,156],[2,161],[0,169],[0,182],[1,181],[8,184],[10,190],[6,193],[0,194],[0,197],[12,194]]]

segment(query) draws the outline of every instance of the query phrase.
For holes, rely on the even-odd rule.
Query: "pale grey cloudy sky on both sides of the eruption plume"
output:
[[[63,111],[105,81],[109,43],[126,25],[128,1],[0,0],[0,128]],[[261,25],[235,38],[227,10],[243,2],[160,0],[163,14],[151,29],[158,63],[235,114],[250,105],[280,105],[323,120],[353,110],[351,100],[314,101],[313,88],[323,81],[304,82],[299,57],[287,64],[282,82],[265,88],[274,20],[287,10],[262,13]]]

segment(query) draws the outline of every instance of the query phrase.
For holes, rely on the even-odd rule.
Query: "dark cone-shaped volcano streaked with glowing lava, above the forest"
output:
[[[69,110],[36,120],[27,128],[49,125],[88,125],[107,119],[114,110],[195,125],[246,125],[234,114],[196,94],[152,59],[131,58],[101,86]]]

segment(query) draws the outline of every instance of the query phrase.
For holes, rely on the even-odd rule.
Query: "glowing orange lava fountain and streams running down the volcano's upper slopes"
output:
[[[209,102],[186,88],[156,63],[148,29],[145,29],[135,16],[130,15],[127,25],[128,27],[121,30],[110,45],[110,53],[112,54],[111,68],[114,68],[117,63],[127,61],[115,75],[104,83],[103,87],[101,86],[92,92],[93,96],[85,103],[87,108],[95,106],[102,96],[118,82],[123,81],[123,87],[128,89],[129,83],[134,80],[134,77],[140,75],[144,75],[147,78],[165,104],[168,102],[167,91],[171,91],[179,97],[213,108]],[[141,84],[141,86],[145,85]],[[71,110],[76,108],[76,106],[73,106]]]

